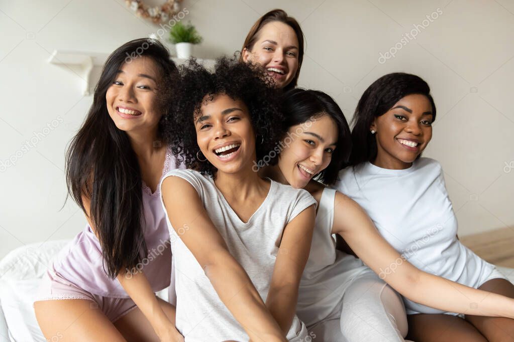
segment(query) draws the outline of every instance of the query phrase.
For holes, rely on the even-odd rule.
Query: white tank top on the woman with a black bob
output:
[[[296,312],[307,327],[341,314],[346,288],[369,271],[362,261],[336,249],[332,237],[336,190],[325,188],[316,215],[313,243],[300,281]]]

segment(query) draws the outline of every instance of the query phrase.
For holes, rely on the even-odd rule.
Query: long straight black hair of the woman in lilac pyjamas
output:
[[[111,278],[123,268],[132,269],[147,254],[141,170],[128,135],[109,116],[105,98],[122,64],[142,56],[151,58],[160,71],[158,105],[165,116],[177,68],[161,43],[135,39],[107,58],[93,105],[66,152],[68,195],[86,215],[83,197],[90,199],[90,222],[100,241],[104,269]]]

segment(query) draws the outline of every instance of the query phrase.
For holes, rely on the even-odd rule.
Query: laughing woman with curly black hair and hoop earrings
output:
[[[316,201],[252,169],[283,120],[264,73],[235,58],[219,59],[213,73],[191,60],[166,120],[174,153],[191,168],[161,182],[186,340],[308,337],[295,310]]]

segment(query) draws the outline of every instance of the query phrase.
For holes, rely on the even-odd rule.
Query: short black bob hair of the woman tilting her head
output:
[[[307,123],[322,116],[328,116],[337,126],[337,146],[332,154],[330,164],[315,175],[320,182],[331,185],[337,180],[339,170],[348,164],[352,151],[352,139],[350,127],[346,122],[341,108],[332,97],[317,90],[301,88],[291,89],[285,92],[280,100],[282,112],[285,115],[283,132],[287,133],[290,127]],[[277,159],[274,160],[274,164]]]

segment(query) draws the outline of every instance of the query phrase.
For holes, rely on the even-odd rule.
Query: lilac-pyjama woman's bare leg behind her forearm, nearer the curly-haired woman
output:
[[[175,324],[175,307],[167,301],[157,298],[159,304],[171,321]],[[152,325],[141,310],[135,308],[115,321],[114,326],[121,332],[127,341],[159,341]]]

